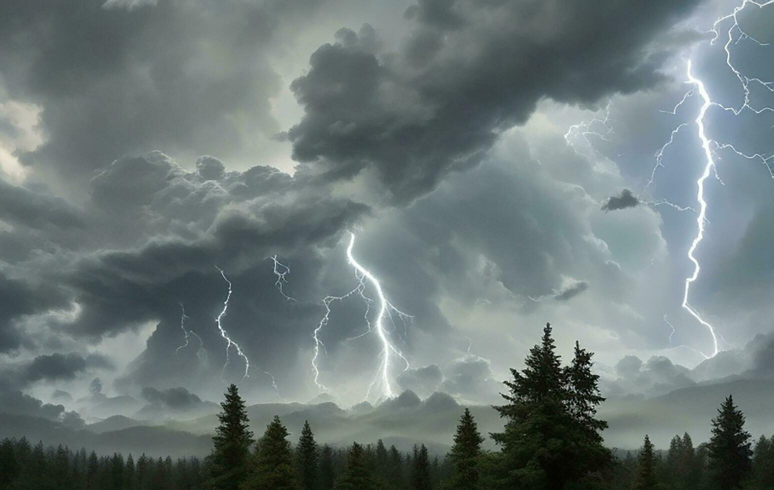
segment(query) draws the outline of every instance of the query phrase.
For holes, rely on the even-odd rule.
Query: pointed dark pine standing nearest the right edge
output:
[[[720,488],[738,488],[751,468],[752,443],[745,431],[745,416],[731,395],[717,409],[708,444],[710,471]]]

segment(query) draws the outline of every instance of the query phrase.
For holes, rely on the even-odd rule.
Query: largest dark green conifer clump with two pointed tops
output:
[[[611,464],[595,418],[598,376],[591,372],[592,354],[575,344],[570,366],[563,368],[546,324],[539,345],[529,351],[522,372],[511,369],[503,406],[505,431],[491,437],[502,447],[501,484],[508,488],[564,488],[598,479]]]

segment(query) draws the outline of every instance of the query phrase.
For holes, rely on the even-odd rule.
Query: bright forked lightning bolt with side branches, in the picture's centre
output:
[[[410,365],[409,365],[408,359],[406,359],[406,356],[404,356],[402,352],[399,350],[399,348],[397,348],[396,345],[392,343],[389,333],[387,331],[387,328],[385,327],[385,318],[390,320],[390,322],[392,323],[392,329],[395,330],[396,326],[395,326],[394,318],[392,317],[393,313],[397,314],[404,322],[404,328],[406,327],[406,319],[410,319],[412,317],[409,314],[403,313],[401,310],[399,310],[398,308],[393,306],[392,303],[389,302],[389,300],[387,299],[387,296],[385,296],[384,290],[382,290],[382,284],[379,282],[376,276],[374,276],[373,273],[370,272],[368,269],[365,269],[364,266],[361,266],[360,262],[358,262],[357,259],[354,258],[354,255],[352,255],[352,250],[354,248],[354,240],[355,240],[354,233],[350,232],[350,241],[347,247],[347,260],[349,265],[354,268],[354,276],[355,276],[355,279],[358,280],[358,283],[356,286],[354,286],[354,289],[352,289],[351,291],[349,291],[348,293],[342,296],[326,296],[323,299],[325,314],[324,314],[324,317],[320,320],[320,324],[317,325],[317,328],[315,328],[313,333],[313,338],[315,341],[314,354],[312,357],[314,382],[318,388],[324,391],[328,391],[327,387],[322,385],[319,381],[320,370],[317,366],[317,358],[320,355],[320,347],[322,347],[323,349],[325,348],[325,345],[323,344],[323,342],[320,341],[320,332],[330,321],[330,304],[334,303],[335,301],[344,300],[349,296],[358,295],[365,303],[364,318],[365,318],[366,330],[362,334],[358,334],[357,336],[350,338],[348,340],[361,338],[366,334],[369,334],[375,331],[380,343],[382,344],[382,352],[381,352],[382,362],[374,376],[374,379],[368,385],[368,391],[365,394],[365,398],[368,399],[368,397],[371,396],[372,389],[376,385],[380,385],[382,387],[382,396],[384,396],[385,398],[392,398],[396,395],[395,391],[392,389],[392,381],[390,377],[392,358],[393,357],[399,358],[403,362],[403,364],[405,365],[403,368],[404,371],[408,369]],[[372,289],[375,291],[375,294],[376,294],[376,298],[377,298],[376,301],[378,301],[378,311],[376,313],[376,317],[373,323],[368,319],[368,313],[370,312],[371,304],[374,303],[375,300],[372,300],[368,296],[365,296],[366,283],[372,286]]]

